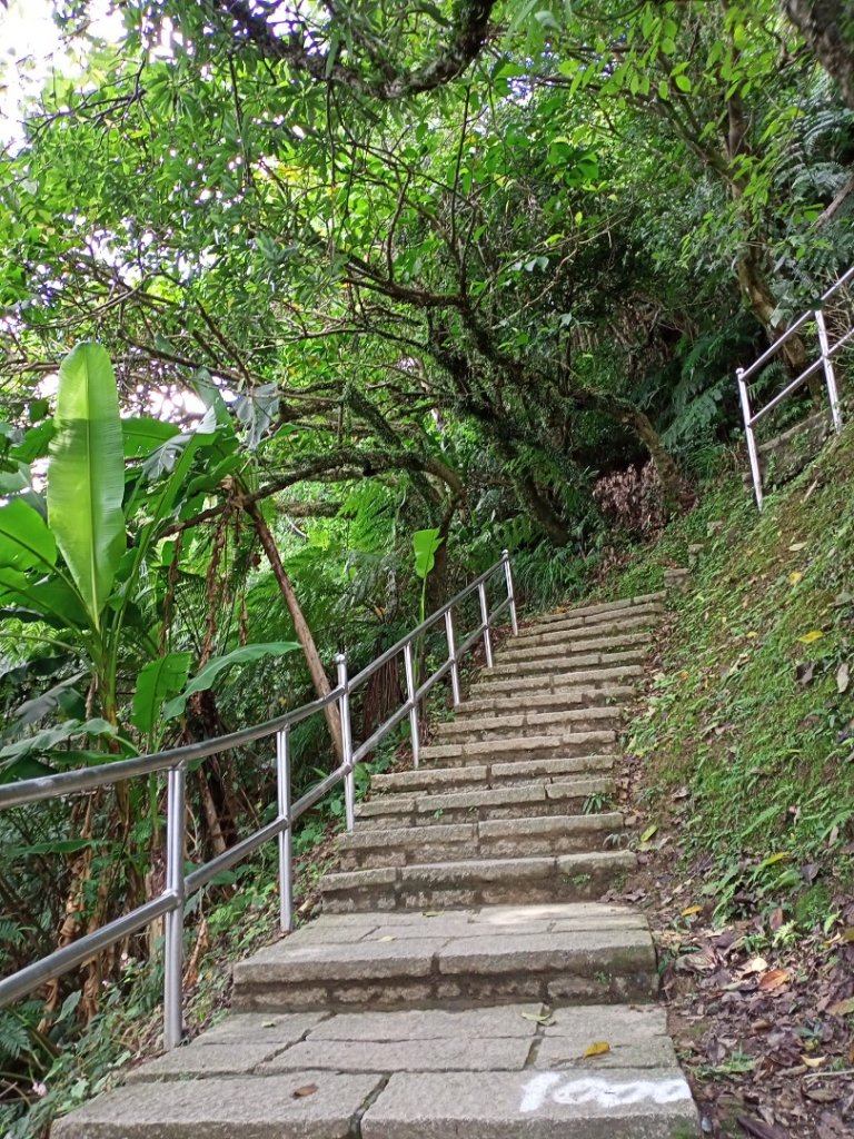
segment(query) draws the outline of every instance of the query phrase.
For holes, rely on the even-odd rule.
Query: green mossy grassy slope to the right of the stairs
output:
[[[705,543],[630,748],[647,760],[652,817],[688,788],[682,846],[718,916],[782,904],[811,925],[851,886],[852,474],[854,425],[762,515],[732,477],[609,582],[613,596],[660,588]],[[711,522],[723,525],[709,536]]]

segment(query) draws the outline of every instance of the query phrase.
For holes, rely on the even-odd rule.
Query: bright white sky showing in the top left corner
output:
[[[54,23],[51,0],[10,0],[0,5],[0,146],[22,137],[20,108],[35,98],[51,67],[68,62],[59,30]],[[92,5],[93,30],[107,39],[121,33],[121,15],[110,0]]]

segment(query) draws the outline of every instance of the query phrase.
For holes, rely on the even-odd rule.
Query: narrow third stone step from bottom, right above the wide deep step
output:
[[[631,851],[416,862],[327,874],[325,913],[578,902],[601,898],[635,867]]]

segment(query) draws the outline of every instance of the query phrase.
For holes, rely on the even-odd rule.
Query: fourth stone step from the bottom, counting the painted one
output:
[[[342,839],[342,870],[460,862],[479,859],[577,854],[603,849],[623,830],[618,811],[491,819],[428,827],[360,828]]]

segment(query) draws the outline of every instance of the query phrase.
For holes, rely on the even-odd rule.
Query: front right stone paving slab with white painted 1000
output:
[[[679,1130],[678,1130],[679,1129]],[[697,1109],[672,1068],[397,1073],[362,1139],[693,1139]]]

